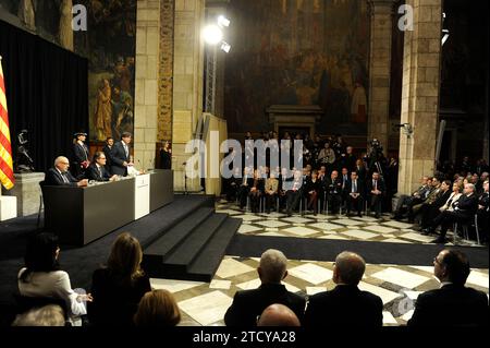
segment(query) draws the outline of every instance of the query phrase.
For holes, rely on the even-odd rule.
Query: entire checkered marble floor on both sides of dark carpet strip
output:
[[[281,236],[299,238],[326,238],[342,240],[382,241],[396,243],[428,243],[433,237],[425,237],[413,225],[372,217],[346,218],[345,216],[293,215],[272,213],[243,213],[235,204],[220,202],[217,212],[243,219],[238,232],[254,236]],[[458,241],[458,243],[473,244]],[[151,286],[171,291],[182,311],[182,326],[221,326],[223,316],[237,290],[254,289],[260,285],[257,275],[259,259],[226,255],[211,283],[151,279]],[[332,262],[290,260],[289,276],[284,285],[290,291],[311,296],[330,290]],[[473,269],[467,285],[489,293],[489,271]],[[432,266],[399,266],[368,264],[359,287],[381,297],[385,326],[403,325],[413,314],[417,296],[439,287],[432,275]]]

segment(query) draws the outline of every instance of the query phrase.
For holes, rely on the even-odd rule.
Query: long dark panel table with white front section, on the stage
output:
[[[85,245],[173,201],[172,170],[86,188],[44,187],[45,226],[61,244]]]

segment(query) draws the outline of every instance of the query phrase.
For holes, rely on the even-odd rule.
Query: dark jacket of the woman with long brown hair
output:
[[[111,275],[108,268],[94,272],[91,278],[93,302],[87,313],[90,324],[96,326],[133,326],[139,300],[151,291],[148,276],[136,278],[132,284]]]

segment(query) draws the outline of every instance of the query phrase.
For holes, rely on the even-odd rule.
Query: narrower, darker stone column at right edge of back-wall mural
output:
[[[391,39],[394,0],[368,0],[370,8],[370,56],[368,142],[378,139],[388,149],[390,111]]]

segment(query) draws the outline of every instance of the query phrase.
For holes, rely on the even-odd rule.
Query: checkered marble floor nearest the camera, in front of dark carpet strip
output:
[[[225,256],[211,283],[151,279],[151,286],[171,291],[182,311],[182,326],[222,326],[237,290],[260,285],[259,259]],[[311,296],[334,288],[332,262],[290,260],[283,284],[290,291]],[[489,293],[488,269],[473,269],[467,286]],[[412,317],[417,296],[439,287],[431,266],[368,264],[360,289],[378,295],[384,304],[385,326],[403,325]]]

